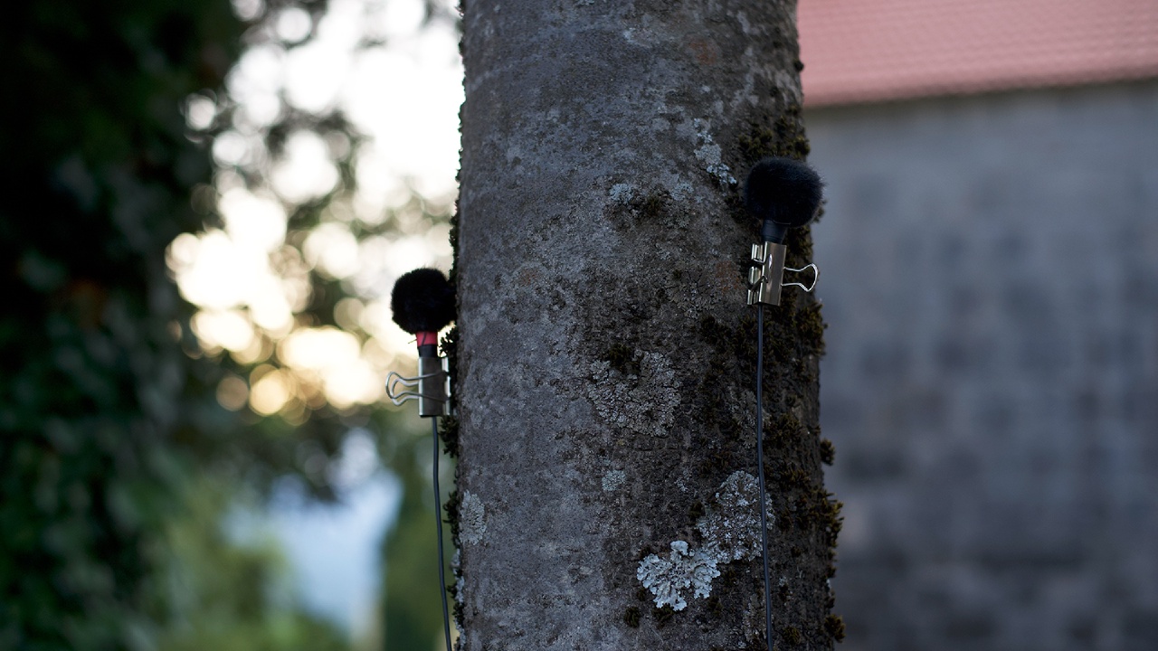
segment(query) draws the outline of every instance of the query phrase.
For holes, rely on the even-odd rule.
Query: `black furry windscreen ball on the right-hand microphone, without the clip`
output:
[[[822,197],[823,183],[814,169],[779,156],[756,163],[743,189],[743,202],[757,219],[789,228],[812,221]]]

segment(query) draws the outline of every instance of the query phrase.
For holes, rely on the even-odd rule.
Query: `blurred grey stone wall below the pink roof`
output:
[[[1158,649],[1158,82],[806,124],[844,649]]]

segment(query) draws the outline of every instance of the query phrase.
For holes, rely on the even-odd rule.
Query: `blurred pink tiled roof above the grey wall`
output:
[[[1158,0],[799,0],[809,107],[1158,76]]]

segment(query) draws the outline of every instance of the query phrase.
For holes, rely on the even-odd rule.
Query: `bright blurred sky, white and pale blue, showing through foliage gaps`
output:
[[[261,2],[233,0],[242,19],[258,15]],[[444,5],[453,15],[450,1]],[[272,341],[290,372],[259,366],[249,387],[240,379],[222,385],[222,404],[284,414],[306,381],[315,381],[331,404],[373,404],[383,398],[386,373],[412,364],[411,337],[390,321],[389,290],[416,266],[449,266],[447,229],[432,229],[416,214],[402,220],[401,233],[358,241],[350,224],[380,222],[386,211],[410,202],[412,191],[444,205],[453,202],[463,98],[459,36],[450,21],[424,25],[424,15],[423,0],[330,0],[314,38],[293,46],[312,21],[306,12],[286,8],[272,34],[259,35],[229,75],[237,111],[213,156],[222,169],[266,169],[269,183],[247,186],[235,173],[219,173],[214,190],[223,229],[178,237],[169,266],[182,294],[200,308],[193,330],[206,349],[255,363],[269,357],[264,349]],[[272,160],[262,130],[285,110],[283,101],[315,114],[339,108],[369,137],[358,154],[357,193],[313,229],[305,259],[286,258],[287,212],[334,189],[332,160],[350,144],[299,131],[290,136],[285,156]],[[185,109],[190,127],[199,130],[213,123],[218,104],[195,96]],[[294,322],[307,298],[309,268],[356,290],[337,316],[365,331],[366,342]],[[309,504],[286,484],[267,525],[285,546],[307,606],[357,636],[376,616],[381,540],[398,505],[398,484],[381,470],[368,432],[347,440],[338,474],[340,504]]]

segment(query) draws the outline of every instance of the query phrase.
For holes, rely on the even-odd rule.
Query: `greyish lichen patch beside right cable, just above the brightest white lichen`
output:
[[[720,563],[758,556],[763,546],[760,535],[760,481],[738,470],[728,475],[716,491],[706,515],[696,522],[704,544],[714,551]],[[768,524],[774,517],[767,513]]]

